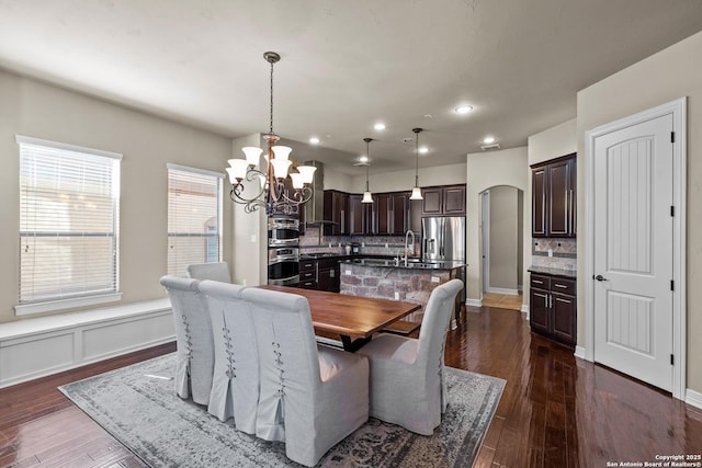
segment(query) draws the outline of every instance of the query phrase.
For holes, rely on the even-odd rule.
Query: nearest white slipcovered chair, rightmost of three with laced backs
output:
[[[306,298],[259,288],[242,297],[253,306],[261,363],[256,434],[314,466],[367,420],[367,359],[318,345]]]

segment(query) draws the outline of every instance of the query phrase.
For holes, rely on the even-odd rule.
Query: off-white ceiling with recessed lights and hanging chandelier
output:
[[[420,167],[524,146],[701,30],[700,0],[0,0],[0,68],[238,137],[268,132],[274,50],[275,133],[362,174],[364,137],[374,171],[414,169],[414,127]]]

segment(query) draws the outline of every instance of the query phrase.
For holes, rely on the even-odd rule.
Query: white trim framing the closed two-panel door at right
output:
[[[672,396],[679,400],[686,398],[687,385],[687,98],[649,109],[638,114],[630,115],[615,122],[601,125],[585,133],[586,155],[586,213],[587,213],[587,251],[585,277],[591,278],[595,274],[595,139],[620,130],[642,122],[650,121],[663,115],[672,114],[672,129],[676,133],[676,142],[672,147],[673,160],[673,204],[676,216],[673,218],[673,271],[675,292],[672,294],[672,353],[676,356],[672,366]],[[595,287],[591,281],[586,282],[585,295],[585,358],[595,361],[595,313],[593,295]]]

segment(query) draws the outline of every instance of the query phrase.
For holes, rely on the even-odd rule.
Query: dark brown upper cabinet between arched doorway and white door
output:
[[[576,153],[531,167],[532,237],[576,237]]]

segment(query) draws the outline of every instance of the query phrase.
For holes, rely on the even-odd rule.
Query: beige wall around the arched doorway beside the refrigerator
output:
[[[466,215],[466,261],[468,304],[479,304],[482,298],[483,273],[480,272],[480,192],[497,185],[509,185],[526,191],[529,180],[526,147],[505,149],[500,151],[473,152],[467,155],[467,215]],[[524,204],[526,202],[524,197]],[[531,198],[529,198],[531,199]],[[529,203],[531,206],[531,203]],[[526,205],[524,213],[531,210]],[[531,222],[524,216],[524,224]],[[525,265],[528,266],[528,265]]]

